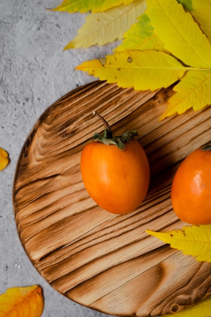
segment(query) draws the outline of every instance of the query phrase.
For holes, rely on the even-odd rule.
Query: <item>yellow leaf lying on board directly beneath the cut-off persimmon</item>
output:
[[[146,230],[185,255],[196,257],[197,261],[211,262],[211,225],[185,226],[183,230],[155,232]]]

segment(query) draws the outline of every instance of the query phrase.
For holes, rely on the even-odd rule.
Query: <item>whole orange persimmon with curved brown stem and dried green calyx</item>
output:
[[[83,183],[92,199],[104,210],[125,214],[137,209],[149,187],[150,168],[147,155],[136,130],[113,137],[110,126],[100,117],[105,130],[81,152],[80,170]]]

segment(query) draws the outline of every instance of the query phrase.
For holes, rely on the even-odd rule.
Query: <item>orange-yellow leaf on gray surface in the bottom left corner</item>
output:
[[[0,317],[39,317],[44,299],[38,285],[14,287],[0,295]]]

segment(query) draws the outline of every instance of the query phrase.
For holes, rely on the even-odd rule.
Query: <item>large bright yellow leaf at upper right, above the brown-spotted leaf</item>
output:
[[[147,0],[146,14],[165,49],[186,65],[209,68],[211,46],[192,15],[177,0]]]

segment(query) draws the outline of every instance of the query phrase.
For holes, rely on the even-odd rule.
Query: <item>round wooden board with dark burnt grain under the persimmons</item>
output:
[[[106,82],[82,86],[49,107],[20,153],[14,179],[15,219],[38,272],[66,297],[120,316],[156,316],[193,305],[211,290],[211,264],[164,245],[146,229],[181,229],[170,191],[178,164],[210,141],[210,108],[158,122],[173,95],[122,89]],[[136,211],[113,215],[89,197],[80,153],[103,130],[137,129],[151,167],[146,199]],[[118,197],[117,197],[118,199]]]

